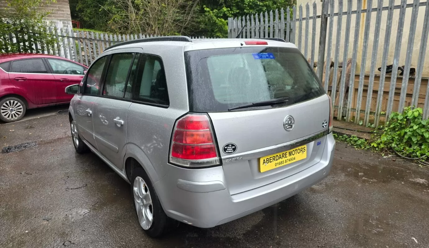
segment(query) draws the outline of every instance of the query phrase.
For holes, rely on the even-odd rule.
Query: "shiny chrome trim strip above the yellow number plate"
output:
[[[273,145],[266,148],[260,148],[253,151],[246,151],[239,154],[231,154],[228,156],[223,156],[222,164],[229,165],[236,162],[240,162],[242,160],[250,160],[250,159],[260,158],[263,156],[268,156],[270,154],[276,154],[282,151],[287,151],[295,147],[310,143],[316,139],[320,139],[321,137],[326,136],[328,133],[329,133],[329,130],[323,130],[290,142],[285,142],[282,144]]]

